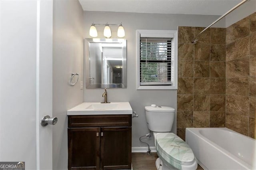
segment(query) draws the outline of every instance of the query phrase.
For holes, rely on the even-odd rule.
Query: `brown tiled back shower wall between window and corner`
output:
[[[177,134],[187,127],[225,127],[226,29],[178,28]]]

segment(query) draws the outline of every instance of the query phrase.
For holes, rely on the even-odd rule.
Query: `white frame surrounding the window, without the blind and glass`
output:
[[[172,85],[140,85],[140,37],[172,38]],[[136,72],[137,90],[178,89],[178,31],[176,30],[136,30]]]

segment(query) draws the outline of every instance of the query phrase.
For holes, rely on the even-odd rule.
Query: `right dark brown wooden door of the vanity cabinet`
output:
[[[131,169],[132,127],[104,127],[101,132],[101,168]]]

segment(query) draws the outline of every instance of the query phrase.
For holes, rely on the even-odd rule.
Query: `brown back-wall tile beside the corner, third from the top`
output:
[[[226,62],[211,61],[210,62],[210,77],[226,77]]]

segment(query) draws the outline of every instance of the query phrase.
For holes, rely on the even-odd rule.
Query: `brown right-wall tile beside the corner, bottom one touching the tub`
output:
[[[226,112],[226,128],[248,136],[248,124],[247,116]]]

